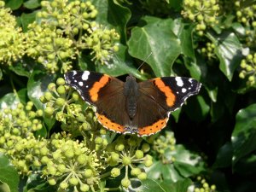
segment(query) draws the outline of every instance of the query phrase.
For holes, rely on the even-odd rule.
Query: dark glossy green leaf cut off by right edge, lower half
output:
[[[256,104],[241,109],[236,114],[236,125],[232,132],[233,166],[241,157],[256,149]]]

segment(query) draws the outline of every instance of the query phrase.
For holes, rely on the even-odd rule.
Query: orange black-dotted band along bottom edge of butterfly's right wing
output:
[[[162,130],[163,128],[166,127],[167,120],[168,120],[168,118],[160,119],[160,120],[156,121],[153,125],[138,128],[138,135],[148,136],[148,135],[154,134],[154,133]]]

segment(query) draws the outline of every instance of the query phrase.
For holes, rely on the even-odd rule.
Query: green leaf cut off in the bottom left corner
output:
[[[15,167],[9,162],[9,159],[0,153],[0,182],[6,183],[9,186],[9,191],[18,191],[19,174]],[[6,186],[1,185],[1,188],[7,189]],[[2,188],[3,189],[3,188]],[[1,190],[1,189],[0,189]],[[8,191],[8,190],[4,190]]]

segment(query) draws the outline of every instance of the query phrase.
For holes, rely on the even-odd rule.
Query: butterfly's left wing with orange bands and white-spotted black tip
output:
[[[85,102],[96,107],[96,117],[105,128],[125,132],[128,115],[125,113],[124,82],[89,71],[72,71],[65,74],[65,79]]]

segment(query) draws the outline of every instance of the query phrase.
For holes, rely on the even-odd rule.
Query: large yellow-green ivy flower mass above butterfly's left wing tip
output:
[[[90,50],[91,60],[108,64],[118,50],[119,34],[94,21],[95,6],[87,2],[67,0],[42,1],[38,12],[40,23],[29,26],[27,55],[37,59],[50,72],[67,73],[73,61],[84,49]]]

